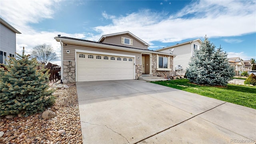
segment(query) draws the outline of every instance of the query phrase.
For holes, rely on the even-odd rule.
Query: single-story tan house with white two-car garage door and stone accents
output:
[[[103,35],[98,42],[54,37],[61,44],[63,83],[132,80],[142,74],[170,77],[174,54],[148,50],[131,32]]]

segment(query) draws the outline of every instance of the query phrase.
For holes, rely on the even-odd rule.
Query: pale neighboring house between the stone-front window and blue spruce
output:
[[[168,46],[166,48],[161,48],[156,50],[157,52],[165,52],[175,54],[173,59],[173,73],[176,76],[184,76],[186,73],[186,68],[188,68],[188,63],[190,58],[194,55],[194,50],[200,48],[202,40],[190,40],[188,42],[183,42],[173,46]]]

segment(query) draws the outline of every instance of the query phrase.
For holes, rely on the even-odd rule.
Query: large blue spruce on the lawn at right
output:
[[[214,44],[206,37],[200,50],[195,50],[186,71],[191,82],[210,86],[226,86],[234,76],[234,68],[228,64],[227,53],[222,48],[215,50]]]

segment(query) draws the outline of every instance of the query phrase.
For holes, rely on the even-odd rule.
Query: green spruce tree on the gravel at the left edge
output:
[[[17,53],[16,53],[17,54]],[[7,71],[0,69],[0,116],[28,116],[43,112],[55,102],[49,88],[48,70],[36,70],[36,58],[29,60],[30,55],[17,54],[18,60],[11,58],[6,65]]]

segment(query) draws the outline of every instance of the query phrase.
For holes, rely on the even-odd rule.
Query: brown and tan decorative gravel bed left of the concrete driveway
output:
[[[49,110],[54,118],[39,119],[40,114],[24,118],[1,118],[0,138],[3,144],[82,144],[82,132],[75,83],[56,90],[59,96]],[[62,134],[58,131],[61,130]],[[60,132],[60,131],[59,131]]]

